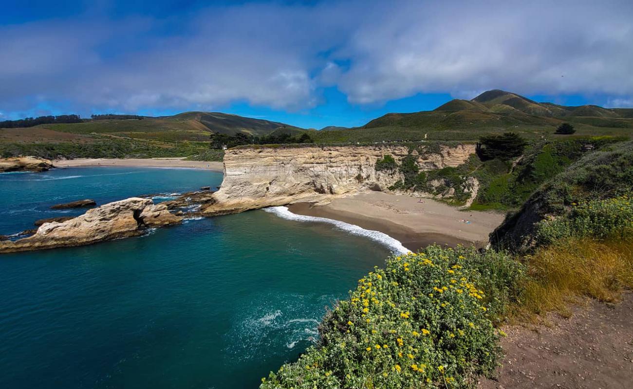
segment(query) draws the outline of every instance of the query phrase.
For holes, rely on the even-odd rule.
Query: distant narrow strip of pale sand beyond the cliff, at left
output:
[[[222,162],[185,161],[184,158],[143,158],[143,159],[65,159],[53,161],[57,168],[73,168],[77,166],[139,166],[148,168],[194,168],[222,171]]]

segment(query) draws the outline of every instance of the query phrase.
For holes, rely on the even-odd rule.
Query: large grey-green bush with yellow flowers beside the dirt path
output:
[[[492,255],[495,267],[503,268],[502,254]],[[499,335],[491,306],[508,293],[507,280],[484,280],[481,270],[489,261],[481,259],[474,249],[437,245],[387,259],[385,269],[361,278],[326,316],[320,344],[263,378],[261,388],[475,385],[478,374],[496,366]],[[498,294],[494,299],[482,290],[486,283]]]

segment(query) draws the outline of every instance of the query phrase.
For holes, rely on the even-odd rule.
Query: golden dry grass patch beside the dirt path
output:
[[[530,278],[515,316],[534,321],[549,311],[571,314],[569,303],[580,297],[617,302],[633,288],[633,242],[570,239],[527,258]]]

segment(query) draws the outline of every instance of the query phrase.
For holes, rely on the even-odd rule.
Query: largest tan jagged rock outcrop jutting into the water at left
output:
[[[181,216],[165,204],[132,197],[90,209],[82,216],[63,222],[44,223],[34,235],[0,242],[0,252],[18,252],[93,244],[141,235],[147,228],[180,223]]]

